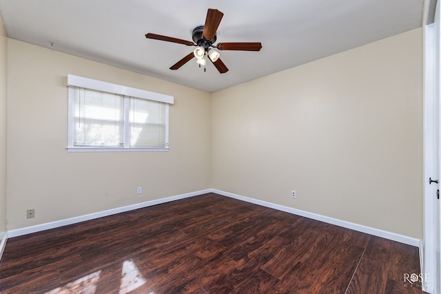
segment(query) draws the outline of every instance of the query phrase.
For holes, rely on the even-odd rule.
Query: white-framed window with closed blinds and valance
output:
[[[68,151],[168,150],[172,96],[68,75]]]

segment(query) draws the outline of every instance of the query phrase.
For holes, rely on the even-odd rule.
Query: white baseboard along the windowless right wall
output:
[[[227,197],[231,197],[231,198],[235,198],[238,200],[243,200],[246,202],[250,202],[250,203],[254,203],[254,204],[258,204],[264,207],[269,207],[272,209],[277,209],[280,211],[285,211],[288,213],[293,213],[296,214],[297,216],[304,216],[305,218],[312,218],[313,220],[320,220],[321,222],[327,222],[328,224],[335,224],[336,226],[339,227],[344,227],[347,229],[351,229],[354,231],[359,231],[362,233],[368,233],[370,235],[376,235],[378,237],[381,238],[386,238],[389,240],[393,240],[393,241],[397,241],[400,243],[404,243],[404,244],[409,244],[411,246],[416,246],[416,247],[420,247],[420,239],[416,239],[416,238],[411,238],[411,237],[407,237],[405,235],[400,235],[397,233],[391,233],[388,231],[382,231],[380,229],[374,229],[371,227],[366,227],[363,226],[362,224],[355,224],[353,222],[347,222],[345,220],[338,220],[336,218],[329,218],[328,216],[321,216],[320,214],[316,214],[316,213],[311,213],[311,212],[307,212],[307,211],[302,211],[300,209],[294,209],[291,207],[285,207],[283,205],[279,205],[279,204],[274,204],[271,202],[266,202],[266,201],[262,201],[262,200],[257,200],[254,198],[248,198],[245,196],[240,196],[240,195],[236,195],[233,193],[228,193],[225,191],[220,191],[217,189],[211,189],[211,191],[213,193],[217,193],[219,195],[223,195],[223,196],[227,196]]]

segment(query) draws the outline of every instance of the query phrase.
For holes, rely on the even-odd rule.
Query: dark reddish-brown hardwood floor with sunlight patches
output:
[[[17,238],[0,293],[423,293],[418,248],[214,193]]]

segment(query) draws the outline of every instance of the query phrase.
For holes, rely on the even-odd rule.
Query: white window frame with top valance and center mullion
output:
[[[131,97],[165,103],[165,147],[130,147],[130,132],[124,132],[123,134],[123,147],[74,146],[74,87],[84,87],[89,90],[109,92],[123,96],[124,129],[130,127],[129,112]],[[169,151],[169,106],[173,103],[173,96],[68,74],[68,147],[66,149],[68,149],[68,152]]]

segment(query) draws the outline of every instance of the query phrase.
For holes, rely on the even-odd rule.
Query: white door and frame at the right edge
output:
[[[440,202],[436,199],[439,184],[429,185],[429,178],[440,180],[440,3],[426,2],[423,21],[423,238],[420,245],[423,290],[440,294]],[[435,17],[427,21],[429,6]],[[429,23],[429,24],[427,24]]]

